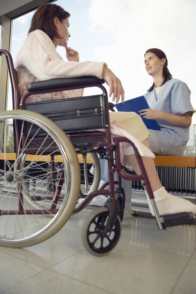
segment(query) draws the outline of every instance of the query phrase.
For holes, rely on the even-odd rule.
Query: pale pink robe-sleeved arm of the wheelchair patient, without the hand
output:
[[[39,80],[95,75],[102,78],[104,62],[74,62],[60,59],[47,34],[36,30],[19,51],[15,67],[24,67]]]

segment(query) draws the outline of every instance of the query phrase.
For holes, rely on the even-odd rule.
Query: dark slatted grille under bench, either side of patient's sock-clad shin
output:
[[[196,169],[184,167],[156,167],[162,185],[168,192],[196,194]],[[133,190],[144,190],[140,181],[132,181]]]

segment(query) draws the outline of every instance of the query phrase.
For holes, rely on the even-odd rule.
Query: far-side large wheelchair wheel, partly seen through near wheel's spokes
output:
[[[26,163],[29,158],[28,154],[25,154],[22,158],[22,168],[26,169],[28,164]],[[87,153],[83,157],[80,153],[77,153],[77,158],[80,164],[80,173],[81,173],[81,185],[80,189],[84,197],[90,193],[98,190],[98,185],[100,181],[100,164],[98,160],[97,153]],[[49,209],[52,202],[52,174],[54,175],[55,183],[57,184],[60,179],[60,174],[63,169],[63,160],[60,156],[56,156],[51,159],[51,156],[42,156],[40,160],[43,160],[45,164],[41,166],[36,165],[36,176],[32,177],[31,181],[23,182],[23,191],[24,191],[24,202],[28,205],[30,209]],[[53,170],[52,172],[52,164]],[[94,175],[90,173],[91,167],[94,166]],[[32,166],[29,167],[29,172],[32,171]],[[26,170],[28,173],[28,170]],[[48,174],[47,180],[42,179],[42,174]],[[40,176],[39,176],[40,174]],[[45,175],[44,175],[45,177]],[[45,189],[45,194],[47,197],[42,197],[43,185],[47,186]],[[62,185],[62,189],[65,190],[65,183]],[[41,195],[40,195],[41,193]],[[76,207],[84,200],[85,198],[80,198],[77,201]],[[90,202],[90,201],[89,201]],[[53,217],[53,214],[47,214],[46,217]]]

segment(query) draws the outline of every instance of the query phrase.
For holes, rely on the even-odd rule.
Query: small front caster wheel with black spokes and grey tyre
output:
[[[121,220],[119,216],[108,236],[103,235],[109,211],[107,207],[94,210],[84,221],[81,238],[84,248],[95,256],[104,256],[118,244],[121,236]]]

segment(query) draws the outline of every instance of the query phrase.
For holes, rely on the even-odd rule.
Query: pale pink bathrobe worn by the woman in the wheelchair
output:
[[[48,80],[60,77],[76,77],[94,75],[102,78],[104,62],[67,62],[57,53],[49,36],[42,30],[30,33],[17,54],[15,68],[18,72],[19,92],[23,97],[27,92],[27,86],[31,82]],[[55,92],[30,96],[27,102],[39,102],[46,100],[64,99],[83,96],[83,89]],[[123,126],[113,117],[110,117],[110,128],[113,136],[124,136],[131,140],[141,156],[154,158],[154,154],[138,139],[123,129]],[[123,165],[129,167],[127,156],[133,154],[133,148],[129,144],[121,144],[121,160]]]

